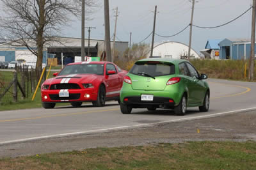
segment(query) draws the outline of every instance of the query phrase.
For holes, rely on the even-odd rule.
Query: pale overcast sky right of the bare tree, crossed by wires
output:
[[[99,8],[86,21],[86,27],[92,29],[91,38],[104,40],[104,8],[103,0],[99,0]],[[188,26],[191,17],[192,3],[189,0],[109,0],[110,34],[115,26],[114,8],[118,7],[116,40],[129,42],[132,32],[132,43],[138,43],[146,38],[153,28],[154,8],[157,5],[156,33],[169,36],[178,33]],[[235,19],[252,5],[252,0],[196,0],[194,21],[196,26],[219,26]],[[200,29],[193,27],[192,48],[199,52],[204,49],[209,39],[248,38],[250,39],[252,10],[243,17],[227,26],[216,29]],[[72,25],[63,29],[62,36],[81,37],[81,21],[74,20]],[[88,37],[88,31],[85,33]],[[150,43],[150,36],[145,43]],[[155,43],[163,41],[189,43],[189,27],[180,35],[172,38],[155,36]]]

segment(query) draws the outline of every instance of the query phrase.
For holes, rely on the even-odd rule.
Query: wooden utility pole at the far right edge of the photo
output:
[[[251,56],[249,61],[249,80],[253,80],[254,60],[255,60],[255,15],[256,15],[256,0],[252,1],[252,36],[251,36]]]

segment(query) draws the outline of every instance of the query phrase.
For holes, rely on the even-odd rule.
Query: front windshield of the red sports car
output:
[[[67,65],[61,70],[58,75],[68,75],[75,73],[93,73],[97,75],[103,75],[104,65],[102,64],[79,64],[79,65]]]

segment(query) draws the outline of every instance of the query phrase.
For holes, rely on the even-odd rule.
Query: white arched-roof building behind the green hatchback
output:
[[[183,59],[188,56],[188,45],[180,42],[163,42],[157,44],[153,49],[153,57],[159,58],[173,58],[173,59]],[[200,58],[195,50],[191,49],[191,56],[193,58]],[[148,52],[148,58],[150,57],[150,52]]]

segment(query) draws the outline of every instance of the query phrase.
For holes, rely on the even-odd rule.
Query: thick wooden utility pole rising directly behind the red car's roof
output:
[[[107,61],[112,61],[110,47],[110,31],[109,31],[109,3],[104,0],[104,20],[105,20],[105,45]]]

